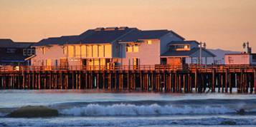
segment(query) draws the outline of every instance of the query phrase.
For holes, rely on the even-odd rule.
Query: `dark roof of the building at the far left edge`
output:
[[[28,48],[32,42],[14,42],[11,39],[0,39],[1,48]]]

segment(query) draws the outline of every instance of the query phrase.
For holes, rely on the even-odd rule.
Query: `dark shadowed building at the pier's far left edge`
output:
[[[11,39],[0,39],[0,65],[29,65],[27,58],[34,55],[32,42],[14,42]]]

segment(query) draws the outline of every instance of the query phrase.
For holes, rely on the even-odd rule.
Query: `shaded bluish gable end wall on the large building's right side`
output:
[[[172,33],[162,36],[161,37],[161,47],[160,47],[161,52],[160,52],[160,54],[163,54],[169,50],[169,46],[167,46],[167,44],[169,44],[171,41],[183,41],[183,40]]]

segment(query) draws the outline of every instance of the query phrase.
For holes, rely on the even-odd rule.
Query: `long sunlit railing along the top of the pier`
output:
[[[255,69],[252,65],[198,65],[187,64],[184,66],[170,65],[115,65],[115,66],[0,66],[0,71],[194,71],[194,70],[241,70]]]

